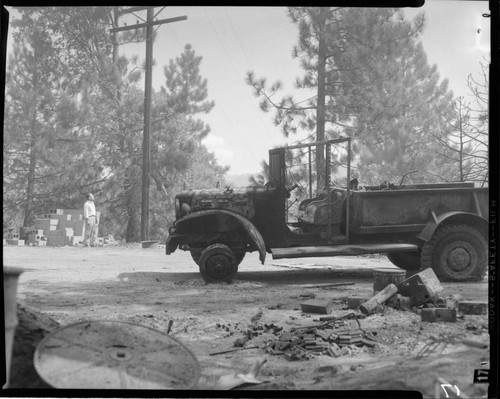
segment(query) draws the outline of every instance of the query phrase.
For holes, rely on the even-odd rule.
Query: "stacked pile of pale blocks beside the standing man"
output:
[[[100,212],[97,212],[99,220]],[[28,233],[28,244],[37,246],[77,245],[85,237],[83,210],[53,209],[35,218]]]

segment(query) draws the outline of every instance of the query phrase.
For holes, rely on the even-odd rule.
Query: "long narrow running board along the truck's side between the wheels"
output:
[[[388,253],[388,252],[414,252],[418,251],[418,245],[414,244],[357,244],[336,245],[334,247],[290,247],[271,248],[273,259],[282,258],[308,258],[316,256],[356,256],[364,254]]]

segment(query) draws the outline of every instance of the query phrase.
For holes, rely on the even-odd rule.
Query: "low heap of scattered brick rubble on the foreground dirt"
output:
[[[317,355],[339,357],[349,353],[348,347],[373,347],[374,335],[361,328],[359,320],[332,320],[321,325],[292,329],[267,343],[271,355],[284,355],[289,360],[307,360]]]

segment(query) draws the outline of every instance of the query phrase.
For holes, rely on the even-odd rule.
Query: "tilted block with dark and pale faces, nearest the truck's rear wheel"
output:
[[[399,294],[411,298],[413,306],[422,305],[443,290],[434,270],[430,268],[407,278],[398,284],[397,288]]]

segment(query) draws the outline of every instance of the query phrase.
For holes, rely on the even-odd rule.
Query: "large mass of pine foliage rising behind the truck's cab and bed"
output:
[[[350,136],[365,184],[428,169],[431,132],[452,93],[418,41],[424,15],[410,23],[397,9],[300,7],[290,16],[299,28],[293,56],[304,69],[296,87],[309,97],[275,101],[280,83],[267,88],[265,79],[247,76],[283,133],[315,131],[316,141]]]

